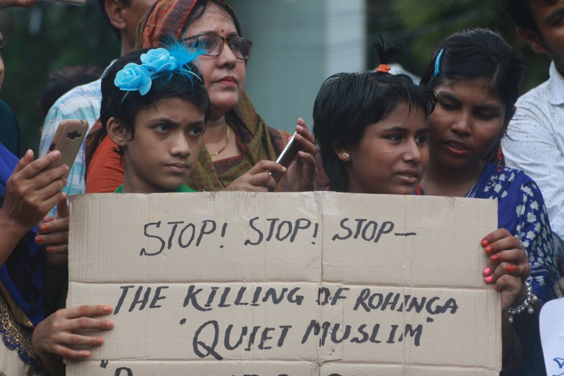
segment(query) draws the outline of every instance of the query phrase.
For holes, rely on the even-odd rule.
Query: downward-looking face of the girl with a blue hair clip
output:
[[[435,87],[437,108],[429,116],[429,149],[453,168],[481,166],[505,124],[505,105],[483,80],[450,81]]]

